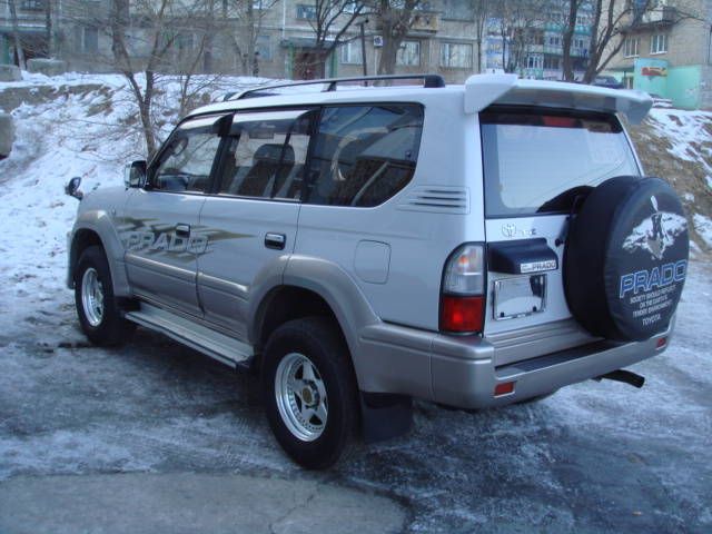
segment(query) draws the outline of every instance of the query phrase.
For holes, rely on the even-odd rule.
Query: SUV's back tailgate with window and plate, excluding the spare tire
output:
[[[485,335],[498,347],[497,364],[591,340],[572,319],[564,295],[566,219],[591,188],[640,174],[619,120],[492,107],[481,112],[479,123],[492,297]]]

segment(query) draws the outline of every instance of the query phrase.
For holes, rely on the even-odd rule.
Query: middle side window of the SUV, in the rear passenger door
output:
[[[236,115],[219,192],[299,199],[312,115],[310,110]]]

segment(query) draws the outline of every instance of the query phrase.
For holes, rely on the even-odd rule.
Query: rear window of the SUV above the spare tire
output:
[[[487,217],[568,211],[607,178],[640,174],[614,116],[493,108],[479,125]]]

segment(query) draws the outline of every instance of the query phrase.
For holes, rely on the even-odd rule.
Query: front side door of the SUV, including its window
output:
[[[220,145],[220,118],[188,120],[171,134],[149,169],[148,184],[134,190],[121,227],[134,291],[196,316],[201,315],[197,257],[207,245],[197,225]]]

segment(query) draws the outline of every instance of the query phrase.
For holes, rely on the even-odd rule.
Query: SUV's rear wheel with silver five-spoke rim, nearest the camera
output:
[[[348,347],[333,320],[307,317],[278,327],[265,347],[261,390],[269,426],[297,464],[324,469],[350,452],[358,390]]]

